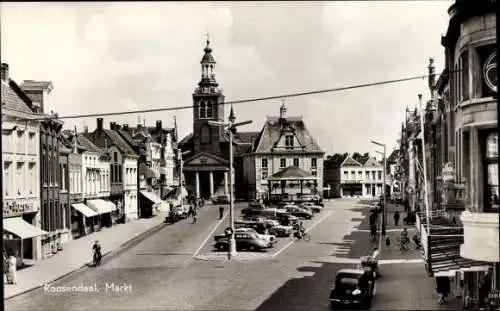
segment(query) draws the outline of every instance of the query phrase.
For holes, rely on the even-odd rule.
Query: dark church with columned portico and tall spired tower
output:
[[[193,133],[179,142],[179,148],[189,195],[210,199],[229,193],[229,134],[223,127],[209,123],[225,122],[224,95],[215,79],[216,63],[208,40],[204,52],[201,80],[193,93]],[[238,132],[233,140],[236,198],[244,198],[248,193],[243,179],[243,154],[251,150],[253,136],[247,134]]]

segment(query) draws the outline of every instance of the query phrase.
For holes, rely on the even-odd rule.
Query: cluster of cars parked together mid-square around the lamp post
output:
[[[236,248],[251,251],[271,248],[276,243],[276,237],[290,237],[300,219],[311,219],[322,209],[322,206],[310,202],[283,203],[274,207],[250,202],[241,211],[241,219],[234,222]],[[214,239],[216,249],[227,250],[228,236],[216,235]]]

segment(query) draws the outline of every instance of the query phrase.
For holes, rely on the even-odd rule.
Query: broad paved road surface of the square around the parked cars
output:
[[[165,228],[103,266],[54,284],[95,286],[99,292],[63,293],[49,288],[16,297],[6,307],[8,310],[328,310],[335,272],[355,266],[334,262],[338,258],[335,245],[357,233],[365,211],[352,200],[331,200],[328,208],[332,210],[328,217],[309,226],[311,241],[287,243],[268,258],[194,260],[196,249],[214,227],[213,223],[201,225],[200,220],[198,225],[185,223]],[[217,211],[210,211],[216,218]],[[359,241],[349,242],[349,251],[359,253],[356,249],[363,247],[366,236],[356,238]],[[443,309],[435,303],[434,282],[427,278],[422,263],[387,264],[381,271],[374,309]],[[122,290],[113,286],[119,284],[125,285]]]

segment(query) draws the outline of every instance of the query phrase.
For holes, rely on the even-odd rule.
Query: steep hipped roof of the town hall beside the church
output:
[[[302,151],[323,152],[316,143],[316,140],[307,130],[302,117],[287,117],[285,119],[267,117],[266,123],[257,137],[254,152],[272,152],[274,146],[281,139],[285,129],[293,131],[299,144],[303,146]]]

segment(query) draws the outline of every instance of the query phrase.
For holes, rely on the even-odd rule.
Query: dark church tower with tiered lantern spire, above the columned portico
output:
[[[207,35],[205,54],[201,59],[201,80],[193,93],[193,147],[194,153],[221,154],[219,141],[224,129],[211,126],[208,121],[224,122],[224,95],[215,80],[215,59]]]

